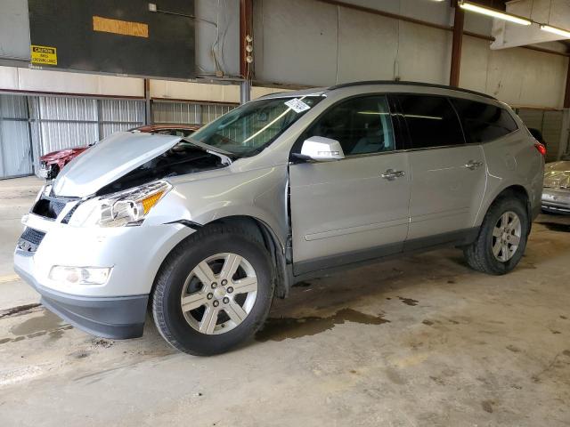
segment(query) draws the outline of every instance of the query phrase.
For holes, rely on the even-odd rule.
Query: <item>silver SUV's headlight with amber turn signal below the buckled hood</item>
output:
[[[154,181],[108,196],[81,202],[72,214],[69,225],[75,227],[121,227],[140,225],[172,186],[167,181]]]

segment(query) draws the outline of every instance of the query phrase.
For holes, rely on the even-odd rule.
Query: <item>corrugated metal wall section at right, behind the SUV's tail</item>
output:
[[[562,110],[516,109],[518,117],[526,127],[533,127],[542,133],[547,144],[547,162],[558,160],[558,148],[562,137]]]

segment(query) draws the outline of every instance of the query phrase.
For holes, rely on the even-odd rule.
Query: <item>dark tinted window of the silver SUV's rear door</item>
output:
[[[465,143],[460,121],[443,96],[397,95],[411,137],[411,148]]]

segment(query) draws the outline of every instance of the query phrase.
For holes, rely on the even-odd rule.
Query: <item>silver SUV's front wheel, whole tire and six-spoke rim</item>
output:
[[[273,288],[273,264],[262,243],[237,228],[208,226],[167,256],[155,281],[152,317],[177,350],[223,353],[263,325]]]

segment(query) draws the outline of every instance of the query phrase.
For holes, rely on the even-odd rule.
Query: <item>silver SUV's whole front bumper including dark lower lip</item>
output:
[[[28,214],[26,226],[22,238],[28,240],[20,238],[14,270],[46,308],[87,333],[113,339],[142,335],[160,264],[193,232],[182,224],[77,228],[36,214]],[[49,277],[54,265],[112,270],[104,285],[71,285]]]

